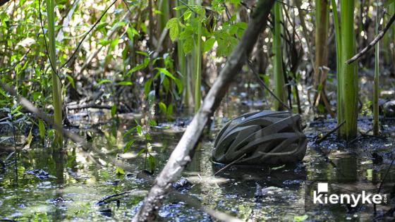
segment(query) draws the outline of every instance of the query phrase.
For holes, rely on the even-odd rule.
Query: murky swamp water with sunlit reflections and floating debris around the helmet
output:
[[[370,206],[351,208],[338,204],[332,208],[307,207],[305,191],[310,190],[307,185],[311,181],[325,181],[348,191],[375,192],[393,155],[390,137],[387,140],[360,137],[345,148],[344,142],[336,141],[335,135],[331,135],[320,146],[310,140],[305,159],[300,164],[271,169],[231,166],[214,176],[221,168],[210,161],[218,130],[229,118],[264,109],[264,106],[264,103],[255,101],[248,106],[229,103],[221,107],[216,112],[211,131],[205,135],[193,161],[183,172],[183,177],[190,183],[178,187],[177,192],[188,195],[189,199],[195,199],[207,208],[224,211],[245,221],[364,221],[374,218],[374,210]],[[180,116],[174,122],[159,123],[159,127],[151,129],[150,153],[155,156],[157,168],[154,175],[144,173],[144,155],[138,156],[145,146],[142,138],[128,152],[122,152],[123,145],[133,137],[123,137],[123,133],[135,125],[135,119],[141,118],[137,114],[119,116],[119,124],[102,111],[81,111],[71,115],[71,123],[76,125],[71,130],[84,136],[88,130],[95,150],[86,150],[68,142],[59,153],[33,140],[29,148],[18,146],[17,155],[11,153],[12,149],[1,151],[0,158],[8,159],[6,171],[0,173],[0,219],[130,220],[190,121],[188,115]],[[310,139],[336,126],[330,119],[311,121],[308,116],[304,118],[305,132]],[[392,135],[393,123],[385,123],[384,134]],[[360,129],[370,127],[370,120],[362,118]],[[1,135],[10,146],[13,144],[11,132]],[[18,135],[18,144],[24,140],[25,137]],[[124,174],[116,174],[116,164],[123,168]],[[391,170],[384,190],[389,190],[390,182],[394,180],[395,171]],[[130,192],[123,193],[127,191]],[[116,194],[120,195],[107,198]],[[378,206],[377,214],[388,208]],[[159,210],[158,220],[212,221],[212,218],[204,211],[188,206],[183,199],[170,195]]]

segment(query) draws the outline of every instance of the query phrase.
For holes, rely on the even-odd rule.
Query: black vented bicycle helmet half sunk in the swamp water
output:
[[[226,123],[217,135],[212,157],[221,164],[269,165],[298,162],[307,140],[299,114],[288,111],[245,113]]]

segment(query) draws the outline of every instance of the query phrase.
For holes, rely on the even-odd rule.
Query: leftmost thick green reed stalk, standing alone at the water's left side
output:
[[[51,63],[52,79],[52,101],[54,103],[54,122],[56,125],[62,125],[62,97],[61,82],[56,74],[56,42],[55,42],[55,1],[46,0],[47,17],[48,17],[48,47],[49,61]],[[63,141],[62,132],[56,131],[55,143],[61,145]]]

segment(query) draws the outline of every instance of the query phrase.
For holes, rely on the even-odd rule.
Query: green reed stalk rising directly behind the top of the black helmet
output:
[[[284,70],[281,54],[281,5],[278,1],[274,3],[274,32],[273,32],[273,71],[274,71],[274,94],[286,102],[286,88],[284,81]],[[284,109],[283,105],[275,100],[274,108],[277,110]]]

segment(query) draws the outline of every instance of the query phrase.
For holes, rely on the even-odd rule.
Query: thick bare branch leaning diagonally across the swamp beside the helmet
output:
[[[169,193],[171,183],[177,180],[186,165],[191,161],[195,148],[205,125],[219,106],[221,99],[231,85],[236,74],[240,72],[250,52],[253,51],[258,35],[265,29],[267,17],[274,4],[274,0],[260,0],[257,2],[255,12],[251,16],[238,46],[233,49],[224,69],[221,70],[214,85],[209,90],[199,111],[178,142],[176,149],[171,153],[169,161],[162,172],[157,176],[150,193],[133,218],[133,221],[154,221],[162,199]]]

